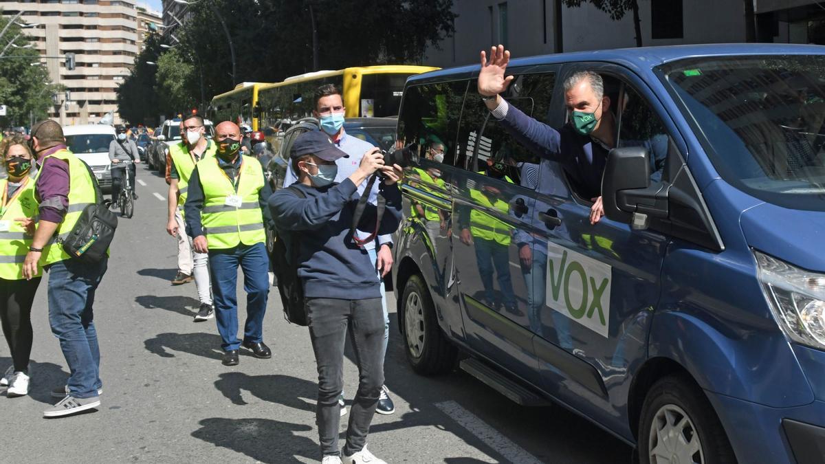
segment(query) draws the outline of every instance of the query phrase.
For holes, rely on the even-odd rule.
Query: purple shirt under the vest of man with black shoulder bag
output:
[[[40,201],[40,220],[61,223],[68,211],[68,163],[63,159],[46,158],[50,154],[66,149],[57,145],[45,151],[37,163],[40,177],[35,183],[35,195]]]

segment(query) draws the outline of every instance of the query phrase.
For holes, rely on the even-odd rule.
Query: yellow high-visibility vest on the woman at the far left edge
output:
[[[23,279],[23,261],[34,239],[27,235],[26,229],[16,221],[22,217],[33,218],[37,215],[37,200],[35,199],[35,179],[26,177],[24,185],[17,187],[14,195],[7,197],[8,180],[0,180],[0,192],[6,203],[0,206],[0,278],[9,281]],[[37,276],[40,276],[40,268]]]

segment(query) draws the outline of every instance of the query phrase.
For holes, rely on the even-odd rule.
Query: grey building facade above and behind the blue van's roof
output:
[[[756,39],[825,44],[822,0],[752,0]],[[633,13],[619,21],[582,2],[562,0],[453,0],[455,35],[430,47],[424,63],[472,64],[479,50],[504,44],[515,56],[636,46]],[[742,0],[638,0],[642,45],[744,42]],[[559,28],[560,26],[560,28]],[[560,30],[559,30],[560,29]]]

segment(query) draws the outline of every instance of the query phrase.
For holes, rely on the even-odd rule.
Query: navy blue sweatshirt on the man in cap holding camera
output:
[[[363,300],[380,298],[380,281],[375,263],[364,249],[352,242],[350,226],[355,213],[356,185],[350,179],[331,187],[294,184],[306,198],[282,188],[269,198],[276,228],[284,237],[299,231],[298,277],[308,298]],[[379,234],[392,234],[401,220],[401,192],[397,185],[381,185],[386,199]],[[367,203],[359,229],[375,229],[375,206]],[[294,244],[288,244],[293,246]]]

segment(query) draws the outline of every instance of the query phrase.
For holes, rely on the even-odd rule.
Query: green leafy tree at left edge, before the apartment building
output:
[[[7,25],[9,17],[0,16],[0,30]],[[17,36],[20,34],[20,36]],[[6,48],[12,38],[14,45],[22,47],[30,43],[29,36],[20,26],[12,24],[0,37],[0,51]],[[0,127],[29,125],[30,117],[35,121],[48,116],[52,104],[51,96],[60,90],[50,82],[45,66],[31,66],[40,61],[36,49],[8,47],[4,57],[23,58],[0,59],[0,104],[7,106],[7,115],[0,116]]]

